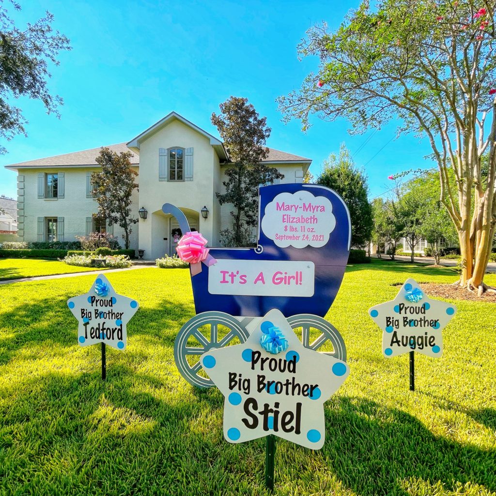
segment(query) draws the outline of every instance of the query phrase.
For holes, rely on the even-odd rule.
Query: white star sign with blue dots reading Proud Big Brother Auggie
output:
[[[412,350],[440,357],[443,352],[441,331],[455,313],[454,305],[432,300],[413,279],[405,282],[394,300],[369,310],[372,320],[383,330],[385,357]]]

